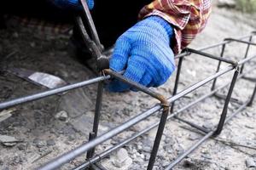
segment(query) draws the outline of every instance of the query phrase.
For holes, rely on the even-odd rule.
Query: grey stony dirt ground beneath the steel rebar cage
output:
[[[253,28],[255,23],[248,21],[249,19],[245,20],[242,16],[235,11],[214,8],[206,30],[196,38],[190,47],[200,48],[214,42],[220,42],[224,37],[240,37],[247,35],[253,29],[255,30],[255,27]],[[229,44],[225,56],[230,59],[242,59],[246,48],[246,45],[239,45],[238,43]],[[38,87],[6,72],[11,68],[47,72],[61,77],[67,83],[96,77],[70,53],[70,49],[67,36],[44,35],[39,34],[38,31],[24,28],[1,30],[0,101],[45,90],[45,88]],[[221,48],[214,48],[207,52],[219,55],[220,50]],[[251,48],[249,55],[252,55],[253,52],[255,54],[255,48]],[[186,58],[178,90],[187,88],[189,85],[212,75],[216,71],[217,64],[217,61],[205,59],[198,55],[191,55]],[[245,71],[253,65],[255,62],[248,65]],[[226,65],[222,65],[221,68],[224,66]],[[255,76],[255,72],[249,73],[248,76]],[[175,74],[164,86],[154,90],[166,97],[172,96],[174,77]],[[217,83],[218,86],[224,82],[230,82],[231,77],[232,74],[221,77]],[[195,93],[179,100],[176,109],[206,94],[209,92],[209,88],[211,88],[211,84],[207,84],[196,90]],[[253,88],[252,82],[244,80],[237,82],[233,97],[246,101],[252,94]],[[226,92],[227,89],[220,93],[226,94]],[[0,144],[0,169],[33,169],[86,142],[88,133],[92,128],[95,101],[96,85],[91,85],[67,94],[52,96],[11,108],[9,110],[11,116],[0,122],[0,135],[15,137],[18,142],[16,141],[11,146]],[[99,133],[107,132],[132,116],[146,111],[155,103],[156,100],[143,93],[111,94],[105,91]],[[181,117],[204,127],[213,127],[218,123],[223,105],[223,99],[212,97],[188,111],[184,111]],[[237,106],[231,104],[229,112],[236,109]],[[223,133],[217,138],[225,142],[219,142],[216,139],[207,140],[174,169],[256,169],[256,167],[247,167],[246,164],[248,160],[256,161],[256,150],[227,143],[227,141],[232,141],[236,144],[256,147],[255,109],[254,102],[252,107],[247,107],[227,124]],[[56,117],[60,111],[66,111],[67,117],[61,120]],[[148,120],[125,131],[125,133],[121,133],[119,138],[107,141],[97,147],[96,151],[105,150],[132,133],[157,122],[159,115],[155,114]],[[108,170],[145,169],[155,132],[154,129],[130,144],[126,144],[124,150],[119,150],[113,156],[103,160],[102,166]],[[182,122],[173,120],[168,122],[154,169],[166,167],[169,162],[188,149],[191,144],[195,144],[201,137],[201,133]],[[84,160],[85,156],[80,156],[61,169],[71,169]]]

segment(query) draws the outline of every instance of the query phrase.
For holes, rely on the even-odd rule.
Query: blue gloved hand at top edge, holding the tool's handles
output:
[[[81,4],[79,0],[50,0],[50,1],[59,8],[81,9]],[[94,0],[86,0],[86,2],[90,9],[94,7]]]

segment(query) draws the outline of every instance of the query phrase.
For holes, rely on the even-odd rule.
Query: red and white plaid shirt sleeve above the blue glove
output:
[[[212,0],[154,0],[145,6],[139,18],[158,15],[174,26],[178,54],[201,32],[211,13]]]

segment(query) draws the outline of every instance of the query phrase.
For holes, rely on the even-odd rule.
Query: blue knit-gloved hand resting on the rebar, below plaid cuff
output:
[[[159,16],[138,22],[118,38],[110,69],[125,70],[125,77],[146,87],[162,85],[175,70],[174,54],[170,48],[173,36],[172,26]],[[110,82],[108,89],[112,92],[133,90],[118,80]]]

